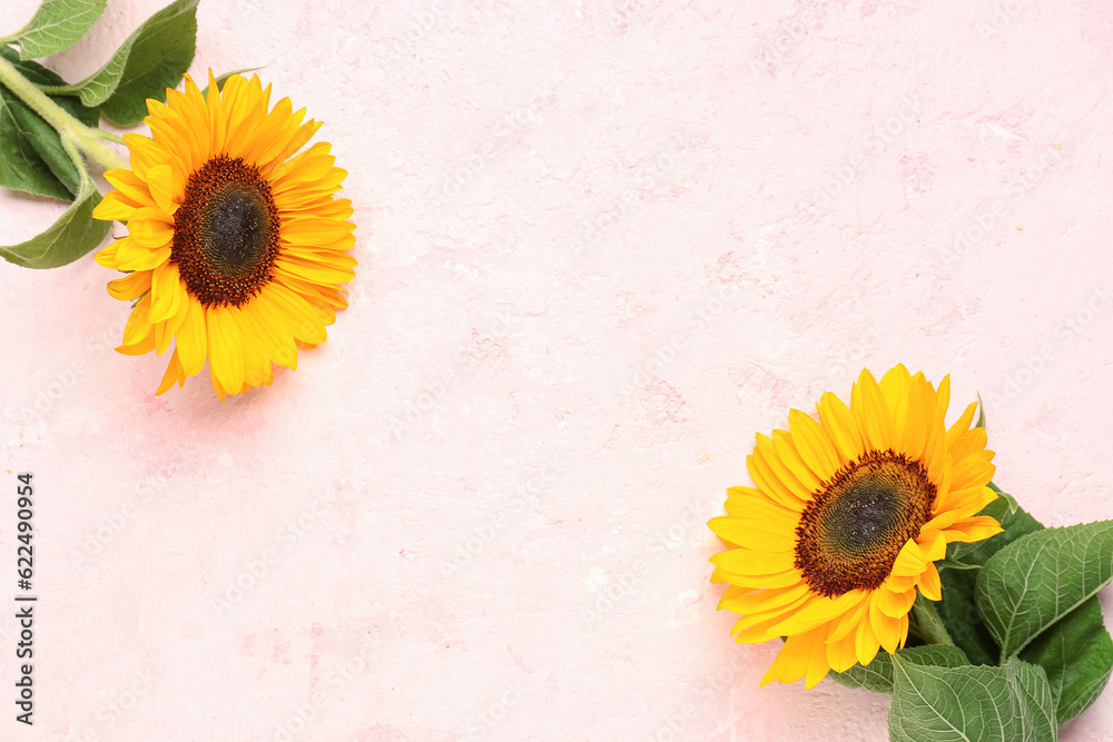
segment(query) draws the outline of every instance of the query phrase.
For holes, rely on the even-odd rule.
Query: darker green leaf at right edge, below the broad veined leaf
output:
[[[1113,640],[1105,630],[1097,597],[1091,597],[1036,636],[1021,652],[1021,659],[1047,673],[1060,724],[1089,709],[1113,670]]]

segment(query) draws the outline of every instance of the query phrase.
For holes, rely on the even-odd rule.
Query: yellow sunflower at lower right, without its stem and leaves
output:
[[[739,642],[785,637],[761,680],[811,687],[830,670],[868,664],[908,637],[917,588],[942,597],[935,562],[951,542],[1002,531],[977,515],[996,494],[977,404],[949,428],[947,377],[936,389],[904,366],[878,384],[863,370],[849,408],[830,392],[819,421],[794,409],[788,431],[757,436],[747,458],[756,487],[732,487],[708,525],[729,551],[711,582],[720,609],[741,614]]]

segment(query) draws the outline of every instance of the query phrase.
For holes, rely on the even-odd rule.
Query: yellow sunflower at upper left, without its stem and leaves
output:
[[[117,348],[174,353],[162,394],[208,359],[223,402],[273,380],[272,362],[297,367],[297,348],[325,340],[355,277],[352,202],[334,198],[347,175],[331,146],[296,154],[321,127],[302,123],[288,98],[234,75],[208,96],[189,76],[185,92],[147,101],[150,137],[125,135],[131,169],[109,170],[116,190],[93,216],[127,221],[128,235],[97,263],[128,275],[108,284],[135,301]]]

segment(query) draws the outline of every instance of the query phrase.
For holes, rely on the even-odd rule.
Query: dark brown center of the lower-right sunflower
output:
[[[824,483],[796,528],[796,567],[811,591],[838,597],[879,587],[930,520],[936,491],[919,462],[892,451],[870,452]]]

